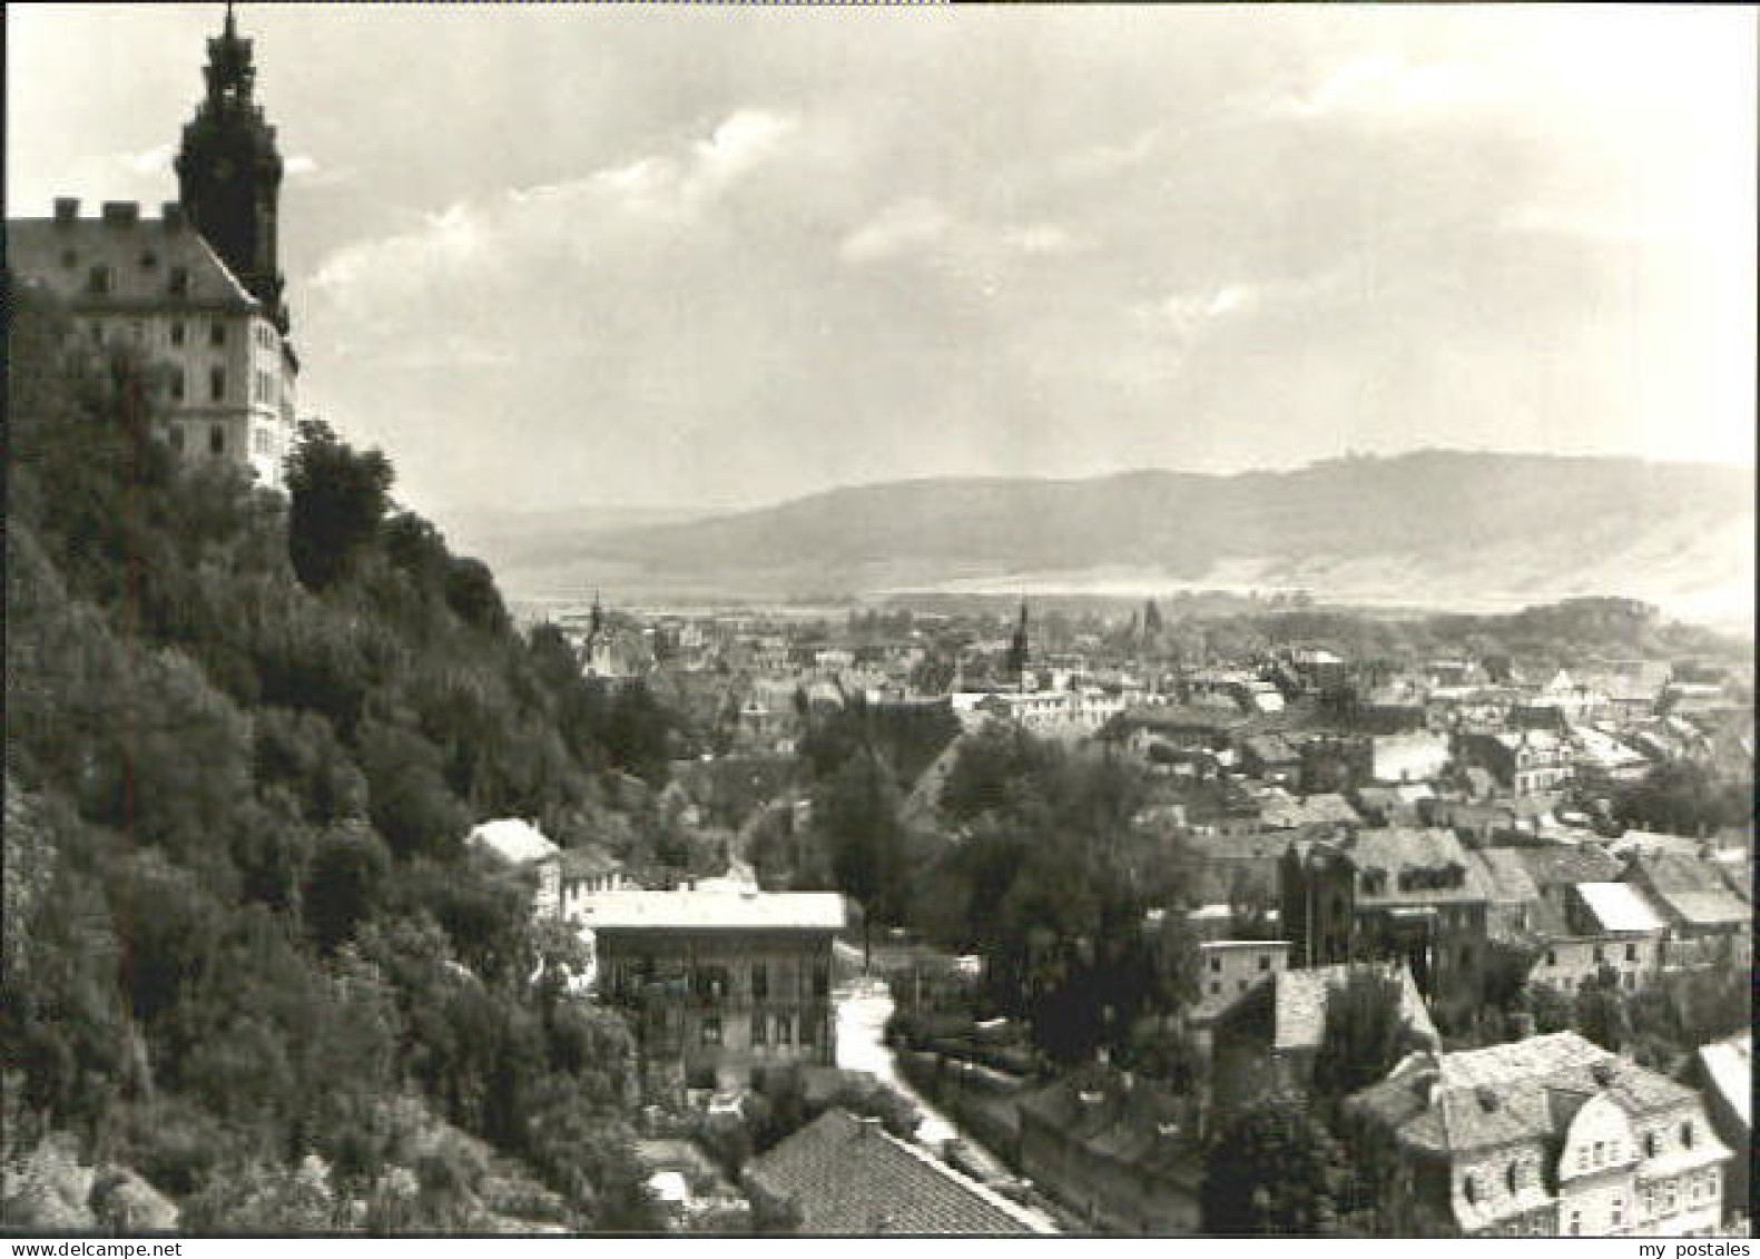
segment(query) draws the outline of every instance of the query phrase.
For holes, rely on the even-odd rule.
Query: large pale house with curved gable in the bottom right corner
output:
[[[1346,1139],[1397,1231],[1698,1236],[1734,1159],[1695,1090],[1575,1032],[1417,1053],[1345,1102]]]

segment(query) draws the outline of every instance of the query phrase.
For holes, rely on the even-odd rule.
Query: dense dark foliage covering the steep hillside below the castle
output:
[[[181,468],[146,364],[11,296],[7,1220],[72,1141],[192,1229],[644,1227],[628,1032],[463,845],[579,833],[612,706],[382,454]]]

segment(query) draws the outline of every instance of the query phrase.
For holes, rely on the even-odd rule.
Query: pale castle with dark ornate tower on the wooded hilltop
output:
[[[160,368],[171,449],[280,488],[299,377],[276,261],[282,157],[231,5],[202,74],[178,201],[158,218],[132,201],[83,218],[77,197],[56,197],[51,218],[7,220],[7,269],[55,294],[93,349],[132,345]]]

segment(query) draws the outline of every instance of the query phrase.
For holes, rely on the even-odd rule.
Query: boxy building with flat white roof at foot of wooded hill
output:
[[[836,1062],[836,893],[602,891],[574,902],[602,998],[635,1016],[646,1083],[737,1088]]]

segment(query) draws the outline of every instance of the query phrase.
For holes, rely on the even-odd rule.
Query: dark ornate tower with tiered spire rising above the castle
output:
[[[208,40],[202,74],[208,97],[183,129],[178,197],[188,220],[285,336],[287,306],[275,241],[282,155],[275,148],[275,127],[252,100],[257,69],[250,40],[238,35],[231,4],[225,28]]]

